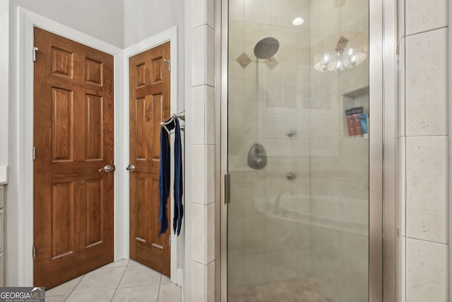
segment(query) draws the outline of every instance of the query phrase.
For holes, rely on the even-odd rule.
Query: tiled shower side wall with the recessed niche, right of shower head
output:
[[[311,50],[347,32],[369,35],[368,1],[311,1]],[[328,22],[326,22],[328,20]],[[311,66],[311,276],[334,301],[367,301],[369,139],[349,136],[345,109],[369,113],[369,59],[326,74]],[[369,129],[369,135],[372,135]]]

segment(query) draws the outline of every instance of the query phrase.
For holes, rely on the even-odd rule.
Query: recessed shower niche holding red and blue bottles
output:
[[[369,137],[369,86],[344,93],[342,100],[343,139],[367,139]],[[359,117],[361,114],[367,114],[366,125],[361,122]]]

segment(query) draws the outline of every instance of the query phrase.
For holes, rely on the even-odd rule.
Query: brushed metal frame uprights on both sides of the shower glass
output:
[[[397,1],[369,0],[369,302],[397,301]],[[227,301],[228,0],[215,0],[215,300]],[[384,158],[384,161],[383,161]],[[384,236],[383,236],[384,233]]]

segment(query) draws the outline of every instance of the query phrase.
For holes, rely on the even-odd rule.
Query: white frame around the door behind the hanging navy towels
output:
[[[158,33],[157,35],[153,35],[152,37],[148,37],[148,39],[145,39],[141,42],[138,42],[134,45],[131,45],[127,47],[124,50],[124,112],[123,112],[123,119],[124,119],[124,158],[123,161],[126,163],[126,165],[129,163],[129,58],[133,57],[136,54],[140,54],[141,52],[144,52],[145,50],[149,50],[150,48],[156,47],[158,45],[161,45],[165,42],[170,42],[170,66],[171,66],[171,72],[170,72],[170,93],[171,93],[171,114],[173,113],[179,113],[177,108],[177,100],[178,100],[178,94],[177,94],[177,26],[174,26],[172,28],[169,28],[162,33]],[[169,117],[168,117],[169,118]],[[172,137],[174,139],[174,137]],[[184,148],[184,146],[182,147]],[[172,155],[173,158],[173,155]],[[172,163],[174,163],[173,159],[171,160]],[[174,181],[174,169],[171,169],[171,182]],[[172,190],[171,190],[172,192]],[[171,197],[171,204],[174,203],[174,197],[173,194],[170,194]],[[124,179],[124,195],[123,195],[124,201],[129,201],[129,175],[126,175],[126,178]],[[127,202],[129,204],[129,202]],[[174,217],[174,209],[171,207],[171,219],[169,221],[172,221]],[[129,257],[129,207],[124,208],[124,239],[126,240],[127,244],[127,250],[124,252],[124,255],[126,257]],[[171,228],[171,227],[170,227]],[[171,230],[170,230],[171,231]],[[177,236],[174,236],[172,234],[171,236],[171,281],[174,284],[182,285],[182,278],[178,277],[177,274],[177,243],[178,243]],[[179,275],[182,276],[181,272],[179,272]]]

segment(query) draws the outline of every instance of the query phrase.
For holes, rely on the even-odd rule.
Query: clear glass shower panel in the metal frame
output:
[[[368,301],[368,37],[368,1],[229,1],[228,301]]]

